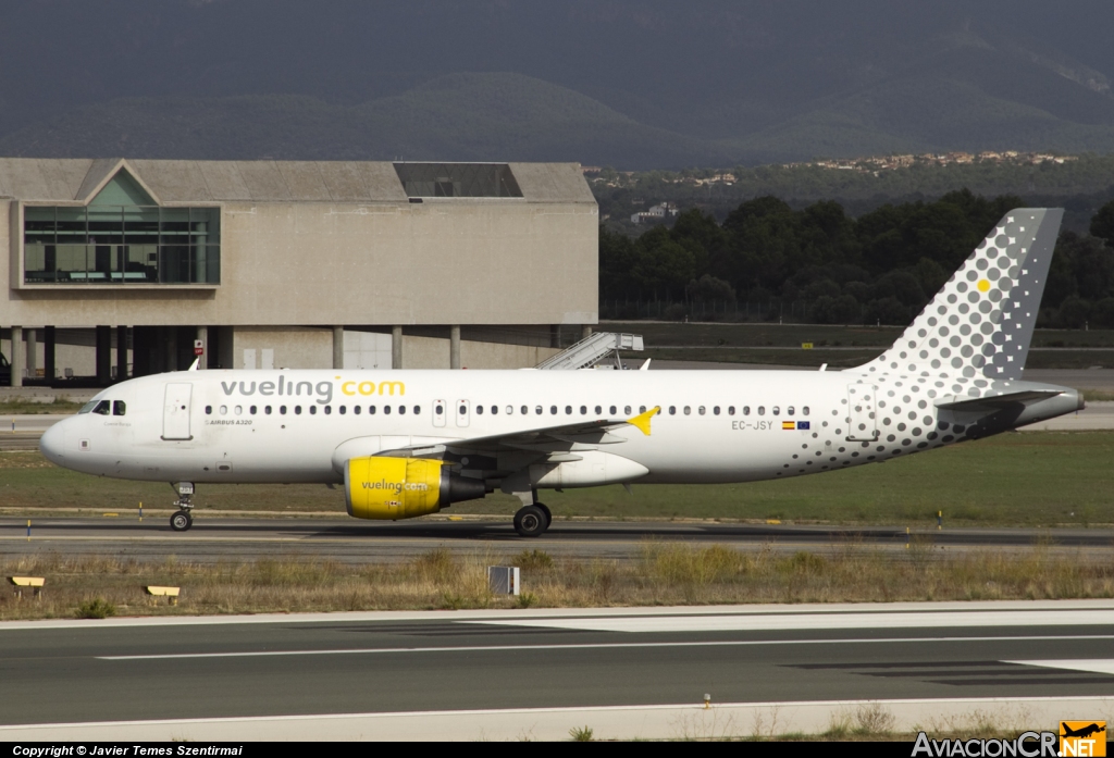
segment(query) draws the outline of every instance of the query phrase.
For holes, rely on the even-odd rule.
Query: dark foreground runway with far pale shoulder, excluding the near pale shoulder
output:
[[[441,612],[6,623],[0,723],[639,706],[705,693],[716,702],[1110,696],[1114,610],[1102,608],[1072,617],[1077,624],[1039,604],[960,611],[955,621],[934,618],[938,608],[813,607],[525,622],[521,613],[476,622]]]

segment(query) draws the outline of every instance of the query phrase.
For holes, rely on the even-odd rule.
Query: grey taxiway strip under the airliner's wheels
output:
[[[109,518],[0,519],[0,551],[7,555],[58,552],[109,554],[121,559],[215,562],[287,559],[330,559],[346,563],[407,560],[436,548],[470,553],[492,548],[518,552],[538,549],[560,558],[626,560],[638,558],[647,544],[686,542],[779,551],[838,550],[864,545],[905,550],[911,538],[919,547],[942,552],[987,547],[1027,549],[1040,542],[1049,548],[1094,551],[1105,555],[1114,547],[1110,529],[950,529],[907,535],[892,526],[822,526],[719,523],[713,521],[556,521],[543,536],[524,539],[508,519],[475,516],[449,521],[364,522],[346,516],[244,519],[199,513],[185,533],[170,531],[169,512]]]

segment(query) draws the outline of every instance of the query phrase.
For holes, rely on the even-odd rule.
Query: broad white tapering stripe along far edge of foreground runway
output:
[[[461,623],[603,632],[774,631],[791,629],[940,629],[947,627],[1114,626],[1112,610],[941,611],[768,616],[675,616],[585,619],[500,619]]]

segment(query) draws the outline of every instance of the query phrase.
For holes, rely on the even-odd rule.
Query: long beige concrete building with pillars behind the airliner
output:
[[[577,164],[0,158],[0,226],[16,386],[195,339],[203,367],[515,368],[597,321]]]

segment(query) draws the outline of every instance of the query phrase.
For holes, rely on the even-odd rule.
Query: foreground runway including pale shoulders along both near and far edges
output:
[[[1102,718],[1114,601],[4,622],[0,670],[0,740],[683,736],[705,696],[783,730],[862,701]]]

